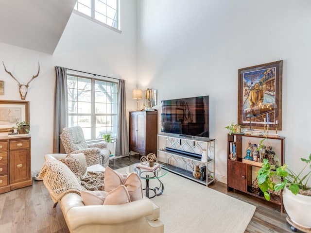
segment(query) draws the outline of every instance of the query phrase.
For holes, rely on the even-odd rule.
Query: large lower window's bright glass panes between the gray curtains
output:
[[[117,136],[118,83],[67,75],[69,127],[82,127],[86,140]]]

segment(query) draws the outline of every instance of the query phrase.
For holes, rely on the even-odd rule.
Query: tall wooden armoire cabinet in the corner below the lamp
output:
[[[140,155],[156,154],[157,112],[130,112],[130,150]]]

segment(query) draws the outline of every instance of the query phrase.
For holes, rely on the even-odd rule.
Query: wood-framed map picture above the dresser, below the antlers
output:
[[[0,132],[17,127],[17,123],[29,122],[29,101],[0,100]]]

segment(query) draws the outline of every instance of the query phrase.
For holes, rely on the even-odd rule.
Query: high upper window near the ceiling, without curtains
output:
[[[77,0],[74,9],[116,29],[119,28],[119,0]]]

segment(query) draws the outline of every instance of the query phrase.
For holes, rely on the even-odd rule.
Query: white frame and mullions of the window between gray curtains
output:
[[[119,80],[116,79],[112,79],[112,78],[108,78],[108,77],[103,77],[103,78],[98,78],[100,76],[95,76],[92,74],[88,74],[88,73],[84,73],[84,72],[79,72],[79,71],[73,71],[73,70],[68,70],[67,71],[67,76],[75,76],[75,77],[80,77],[80,78],[86,78],[86,79],[91,79],[91,85],[92,85],[92,91],[91,91],[91,118],[94,119],[94,117],[96,116],[95,114],[95,95],[94,95],[94,83],[95,81],[103,81],[103,82],[108,82],[108,83],[116,83],[117,84],[117,98],[119,96],[118,90],[119,90]],[[96,77],[96,78],[95,78]],[[68,88],[68,87],[67,87]],[[117,105],[119,105],[119,102],[117,100]],[[118,108],[118,106],[117,106]],[[67,110],[68,111],[68,110]],[[68,113],[68,120],[70,116],[79,116],[79,114],[69,114]],[[111,114],[107,114],[109,116],[111,116]],[[113,114],[114,116],[117,116],[118,113]],[[81,114],[80,116],[85,116],[85,114]],[[118,117],[117,117],[118,118]],[[114,124],[117,128],[118,128],[118,122],[115,122]],[[83,128],[83,127],[82,127]],[[115,132],[117,133],[117,132]],[[111,136],[112,139],[115,139],[115,136]],[[93,142],[93,141],[102,141],[102,138],[96,138],[96,123],[94,121],[92,121],[91,123],[91,138],[90,139],[86,139],[87,142]]]

